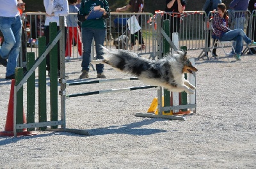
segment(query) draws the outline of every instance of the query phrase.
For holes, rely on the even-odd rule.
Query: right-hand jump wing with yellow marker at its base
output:
[[[176,34],[170,34],[170,20],[164,20],[163,29],[160,27],[162,25],[161,21],[161,14],[157,13],[155,22],[157,25],[156,56],[158,58],[162,58],[164,54],[170,53],[170,47],[172,47],[172,49],[175,51],[178,50],[178,48],[170,40],[170,36],[175,36]],[[173,40],[176,40],[175,42],[178,44],[177,41],[179,41],[179,38],[173,37]],[[195,59],[189,59],[189,61],[191,62],[192,66],[195,66]],[[188,73],[186,78],[191,84],[196,85],[195,73]],[[193,114],[196,112],[196,93],[189,94],[189,103],[187,98],[186,92],[170,92],[163,89],[163,87],[160,87],[160,89],[157,90],[157,98],[153,99],[152,104],[148,109],[148,113],[138,113],[136,116],[185,121],[185,117],[175,116],[175,114]]]

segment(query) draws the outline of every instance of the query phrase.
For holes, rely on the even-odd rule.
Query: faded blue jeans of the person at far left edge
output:
[[[17,67],[17,59],[20,53],[21,27],[20,15],[17,17],[0,17],[0,29],[4,36],[0,55],[3,59],[8,59],[6,77],[13,75]]]

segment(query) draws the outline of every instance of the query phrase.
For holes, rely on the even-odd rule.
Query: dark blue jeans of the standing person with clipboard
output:
[[[82,70],[89,71],[90,56],[92,48],[92,40],[94,38],[96,48],[96,59],[103,59],[103,51],[100,45],[104,45],[106,36],[106,29],[95,29],[90,27],[82,27],[82,41],[83,41],[83,61]],[[102,73],[104,70],[104,64],[96,64],[97,73]]]

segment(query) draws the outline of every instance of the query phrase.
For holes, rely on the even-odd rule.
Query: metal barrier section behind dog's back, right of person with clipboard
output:
[[[132,30],[129,29],[129,24],[132,26],[135,22],[129,20],[133,15],[136,16],[138,24],[141,27],[140,31],[134,34],[132,34]],[[106,20],[108,27],[106,46],[109,48],[124,48],[140,55],[154,54],[156,51],[156,31],[154,30],[154,25],[147,22],[152,16],[152,13],[111,13],[108,20]],[[146,47],[144,50],[140,50],[141,44],[139,43],[142,41],[140,36],[138,36],[140,33]],[[127,36],[129,40],[124,41],[123,36]],[[124,45],[115,45],[115,41],[117,40],[119,43],[125,42]],[[131,48],[132,40],[134,40],[134,46]]]

